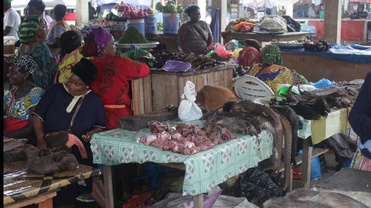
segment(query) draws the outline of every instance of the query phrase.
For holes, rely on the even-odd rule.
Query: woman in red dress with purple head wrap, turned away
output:
[[[101,97],[105,111],[106,129],[118,128],[118,118],[133,115],[130,109],[129,80],[145,77],[150,70],[145,63],[127,57],[114,56],[114,37],[103,27],[93,27],[84,36],[80,49],[84,57],[93,57],[98,69],[97,78],[90,89]]]

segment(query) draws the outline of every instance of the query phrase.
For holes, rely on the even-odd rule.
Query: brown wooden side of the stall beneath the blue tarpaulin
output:
[[[364,79],[371,70],[371,64],[339,61],[313,54],[281,52],[285,67],[295,70],[308,81],[316,82],[322,78],[352,81]]]

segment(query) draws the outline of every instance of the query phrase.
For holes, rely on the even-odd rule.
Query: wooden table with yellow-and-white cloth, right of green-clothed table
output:
[[[275,96],[259,98],[257,99],[257,101],[269,105],[269,101],[272,97]],[[282,99],[282,97],[279,97],[278,95],[276,97],[278,98],[278,100]],[[327,118],[321,117],[319,118],[319,120],[307,120],[308,124],[311,126],[311,137],[313,145],[318,144],[319,142],[324,141],[335,134],[340,134],[341,131],[350,128],[350,124],[347,120],[347,114],[347,108],[332,108]],[[292,184],[292,187],[289,187],[289,191],[292,188],[309,188],[312,158],[315,158],[329,151],[328,148],[315,148],[312,150],[312,147],[309,146],[310,143],[311,142],[309,141],[309,139],[304,139],[303,154],[295,157],[296,163],[302,164],[301,180],[292,180],[291,177],[290,184]],[[272,167],[266,169],[272,169]],[[280,171],[283,170],[284,167],[283,164],[281,164]],[[292,174],[290,176],[292,176]]]

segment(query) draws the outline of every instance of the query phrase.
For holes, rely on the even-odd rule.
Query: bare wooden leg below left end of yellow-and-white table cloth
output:
[[[293,181],[295,188],[309,188],[311,181],[312,147],[309,147],[309,139],[303,142],[303,163],[300,181]]]

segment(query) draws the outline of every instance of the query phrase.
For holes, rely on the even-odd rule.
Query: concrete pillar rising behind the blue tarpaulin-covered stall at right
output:
[[[329,43],[340,44],[341,0],[326,0],[324,38]]]

